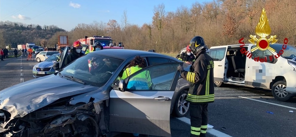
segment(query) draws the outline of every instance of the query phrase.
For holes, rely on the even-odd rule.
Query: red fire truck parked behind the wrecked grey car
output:
[[[78,41],[81,42],[81,44],[89,46],[89,51],[92,51],[92,45],[97,41],[102,43],[103,49],[123,49],[124,47],[122,42],[119,42],[118,46],[116,46],[115,40],[112,40],[111,37],[108,36],[86,36],[85,38],[79,39]]]

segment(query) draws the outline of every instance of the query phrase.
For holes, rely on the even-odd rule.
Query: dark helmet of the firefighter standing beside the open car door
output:
[[[192,38],[192,40],[190,40],[189,46],[193,54],[198,53],[201,49],[207,49],[207,46],[204,44],[204,38],[200,36],[195,36]]]

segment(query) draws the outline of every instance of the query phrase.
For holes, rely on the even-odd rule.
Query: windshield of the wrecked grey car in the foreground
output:
[[[76,59],[60,71],[63,78],[78,79],[87,85],[101,87],[111,78],[123,59],[89,53]],[[77,80],[74,80],[77,81]]]

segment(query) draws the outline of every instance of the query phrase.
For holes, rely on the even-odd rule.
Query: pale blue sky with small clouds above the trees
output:
[[[153,8],[165,5],[165,11],[175,12],[181,5],[212,0],[1,0],[0,20],[25,24],[56,25],[67,31],[79,23],[107,23],[114,19],[122,23],[126,11],[129,24],[151,24]]]

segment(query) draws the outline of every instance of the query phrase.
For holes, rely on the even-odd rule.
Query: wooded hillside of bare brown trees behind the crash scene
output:
[[[110,36],[117,43],[122,41],[126,49],[156,49],[157,52],[173,53],[188,45],[194,36],[204,37],[209,47],[239,44],[242,37],[243,42],[249,43],[249,36],[256,35],[255,28],[263,8],[271,27],[270,35],[276,35],[278,43],[283,43],[287,37],[288,44],[296,45],[295,0],[214,0],[195,2],[191,7],[180,6],[174,12],[165,11],[165,5],[160,4],[151,9],[154,16],[147,17],[152,18],[151,24],[142,26],[129,22],[128,12],[124,11],[121,21],[111,19],[107,23],[77,24],[70,32],[58,27],[50,29],[49,26],[48,29],[39,26],[37,30],[36,26],[35,30],[17,30],[16,34],[6,30],[2,34],[6,43],[12,40],[9,39],[11,36],[17,35],[26,41],[44,39],[48,47],[58,42],[59,34],[67,34],[70,43],[85,36]],[[32,37],[27,35],[34,31]],[[42,37],[36,38],[37,34]]]

